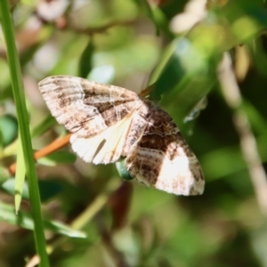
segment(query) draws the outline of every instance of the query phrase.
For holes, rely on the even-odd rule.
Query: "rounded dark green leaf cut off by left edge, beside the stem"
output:
[[[18,137],[18,121],[11,114],[6,114],[0,117],[0,136],[2,143],[5,146],[9,145]]]

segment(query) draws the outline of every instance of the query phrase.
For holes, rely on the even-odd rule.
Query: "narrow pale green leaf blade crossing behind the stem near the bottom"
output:
[[[22,211],[20,211],[19,214],[15,214],[13,206],[6,205],[2,202],[0,203],[0,220],[28,230],[33,230],[34,227],[30,214]],[[54,233],[65,235],[71,238],[86,238],[84,232],[73,230],[68,225],[56,221],[44,220],[44,228],[46,230],[53,231]]]

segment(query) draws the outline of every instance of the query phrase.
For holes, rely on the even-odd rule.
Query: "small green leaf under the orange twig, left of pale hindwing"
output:
[[[69,151],[56,151],[44,158],[39,158],[37,162],[45,166],[56,166],[58,164],[73,164],[76,159],[76,155]]]

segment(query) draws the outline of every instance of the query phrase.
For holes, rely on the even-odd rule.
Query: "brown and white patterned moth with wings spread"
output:
[[[46,77],[39,84],[53,117],[72,133],[72,149],[85,162],[125,158],[129,174],[146,186],[198,195],[204,176],[174,120],[154,101],[114,85],[80,77]]]

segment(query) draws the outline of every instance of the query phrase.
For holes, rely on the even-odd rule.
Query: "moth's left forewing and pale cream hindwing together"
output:
[[[73,133],[72,149],[86,162],[117,161],[134,110],[142,101],[134,92],[80,77],[47,77],[39,83],[53,117]]]

